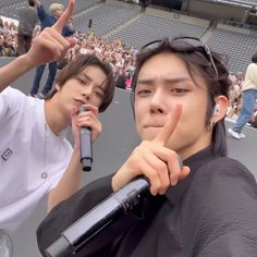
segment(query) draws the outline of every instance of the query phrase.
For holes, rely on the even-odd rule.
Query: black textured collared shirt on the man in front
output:
[[[257,256],[257,185],[238,161],[206,148],[184,161],[189,175],[149,196],[86,245],[77,257]],[[111,176],[58,205],[37,231],[44,253],[61,232],[103,200]]]

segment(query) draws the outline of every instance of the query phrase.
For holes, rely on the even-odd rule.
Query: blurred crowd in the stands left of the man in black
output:
[[[40,33],[40,27],[36,26],[34,37]],[[17,26],[14,22],[8,22],[0,17],[0,57],[16,57],[17,50]],[[95,35],[94,30],[85,35],[76,32],[76,45],[70,49],[63,62],[59,63],[59,69],[64,66],[77,54],[95,53],[98,58],[108,61],[114,71],[118,87],[130,89],[131,77],[135,66],[136,49],[125,46],[121,39],[106,40]]]

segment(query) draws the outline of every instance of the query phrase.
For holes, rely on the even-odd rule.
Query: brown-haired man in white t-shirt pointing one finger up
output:
[[[25,72],[61,60],[72,39],[61,36],[74,0],[52,26],[35,38],[30,50],[0,69],[0,230],[15,230],[48,195],[48,210],[79,187],[79,127],[101,133],[98,110],[110,105],[114,94],[111,66],[94,56],[81,56],[58,75],[46,100],[25,96],[9,85]],[[78,114],[78,106],[87,111]],[[66,140],[72,124],[73,148]]]

